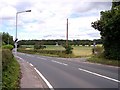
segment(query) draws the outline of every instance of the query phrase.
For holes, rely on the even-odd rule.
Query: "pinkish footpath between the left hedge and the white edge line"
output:
[[[21,89],[40,88],[40,90],[44,90],[45,88],[48,88],[45,82],[35,71],[33,66],[31,66],[28,62],[24,61],[19,57],[16,57],[16,59],[19,62],[21,69],[21,79],[20,79]]]

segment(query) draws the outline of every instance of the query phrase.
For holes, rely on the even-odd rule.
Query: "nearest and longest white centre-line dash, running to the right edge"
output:
[[[95,73],[95,72],[91,72],[91,71],[88,71],[88,70],[85,70],[85,69],[82,69],[82,68],[78,68],[78,70],[84,71],[84,72],[87,72],[87,73],[90,73],[90,74],[93,74],[93,75],[96,75],[96,76],[99,76],[99,77],[102,77],[102,78],[105,78],[105,79],[108,79],[108,80],[112,80],[112,81],[117,82],[117,83],[120,83],[119,80],[116,80],[116,79],[113,79],[113,78],[110,78],[110,77],[107,77],[107,76],[104,76],[104,75],[101,75],[101,74],[98,74],[98,73]]]

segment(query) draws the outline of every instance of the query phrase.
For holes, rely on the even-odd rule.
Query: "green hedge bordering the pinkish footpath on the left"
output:
[[[11,54],[5,56],[7,53]],[[17,90],[19,88],[20,66],[17,60],[15,60],[13,56],[11,56],[12,58],[9,58],[9,55],[12,55],[12,52],[9,50],[4,50],[2,61],[9,59],[10,63],[4,65],[2,70],[2,90]]]

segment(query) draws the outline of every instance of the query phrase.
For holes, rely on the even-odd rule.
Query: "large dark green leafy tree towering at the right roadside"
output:
[[[101,12],[100,20],[91,26],[100,31],[106,58],[120,60],[120,1],[111,10]]]

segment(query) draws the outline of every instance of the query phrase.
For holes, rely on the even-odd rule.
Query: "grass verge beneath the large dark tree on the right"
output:
[[[87,61],[92,62],[92,63],[100,63],[100,64],[105,64],[105,65],[112,65],[112,66],[120,67],[120,61],[105,59],[104,57],[92,56],[88,58]]]

